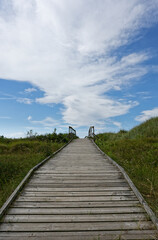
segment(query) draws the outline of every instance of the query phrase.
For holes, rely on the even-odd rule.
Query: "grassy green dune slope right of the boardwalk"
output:
[[[158,217],[158,117],[130,131],[98,134],[95,142],[125,169]]]

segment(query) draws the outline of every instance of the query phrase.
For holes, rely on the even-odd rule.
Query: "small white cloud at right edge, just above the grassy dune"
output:
[[[157,117],[157,116],[158,116],[158,107],[153,108],[152,110],[142,111],[141,114],[135,118],[135,120],[139,122],[143,122],[152,117]]]

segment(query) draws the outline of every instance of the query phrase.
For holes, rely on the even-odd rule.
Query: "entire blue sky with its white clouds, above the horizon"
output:
[[[0,135],[158,116],[157,0],[0,0]]]

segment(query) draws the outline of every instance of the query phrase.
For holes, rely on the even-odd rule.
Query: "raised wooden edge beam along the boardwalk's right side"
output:
[[[124,168],[121,167],[118,163],[116,163],[112,158],[110,158],[106,153],[104,153],[99,147],[98,145],[94,142],[93,139],[91,139],[91,141],[93,142],[93,144],[96,146],[96,148],[106,157],[108,158],[108,160],[110,162],[112,162],[112,164],[114,164],[123,174],[124,178],[126,179],[126,181],[128,182],[129,186],[131,187],[131,189],[133,190],[133,192],[135,193],[135,195],[137,196],[139,202],[143,205],[145,211],[147,212],[147,214],[149,215],[149,217],[151,218],[152,222],[154,223],[154,225],[156,226],[156,228],[158,229],[158,218],[156,217],[156,215],[154,214],[154,212],[151,210],[151,208],[149,207],[148,203],[145,201],[145,199],[143,198],[143,196],[141,195],[141,193],[139,192],[139,190],[136,188],[136,186],[134,185],[134,183],[132,182],[132,180],[130,179],[130,177],[127,175],[127,173],[125,172]]]

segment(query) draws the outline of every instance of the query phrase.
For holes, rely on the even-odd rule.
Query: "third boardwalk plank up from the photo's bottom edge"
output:
[[[121,222],[147,221],[144,213],[94,215],[7,215],[3,222]]]

